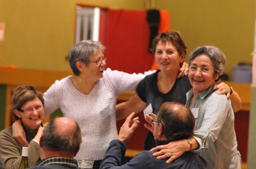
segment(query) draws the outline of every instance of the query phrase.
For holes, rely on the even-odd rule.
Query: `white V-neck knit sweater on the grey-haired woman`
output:
[[[43,94],[45,113],[61,108],[63,115],[77,121],[82,146],[75,158],[103,159],[110,141],[117,138],[115,104],[118,93],[135,90],[145,75],[107,69],[89,94],[79,92],[70,76],[57,80]]]

